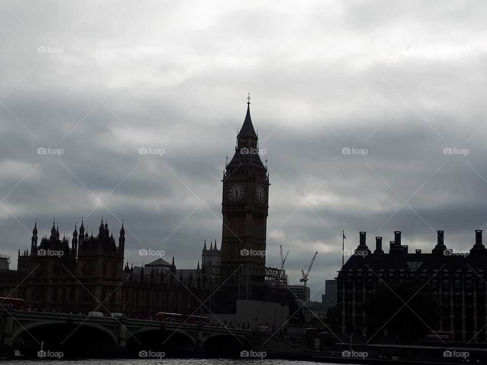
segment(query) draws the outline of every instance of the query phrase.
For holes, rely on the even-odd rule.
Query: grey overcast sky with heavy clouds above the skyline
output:
[[[484,1],[0,2],[0,251],[53,217],[101,216],[125,259],[195,268],[221,244],[221,179],[251,92],[270,175],[267,258],[311,293],[359,231],[436,230],[468,249],[487,224]],[[62,155],[38,154],[39,148]],[[140,148],[163,149],[141,155]],[[342,154],[349,148],[351,154]],[[444,150],[451,149],[451,150]],[[446,153],[445,153],[446,152]],[[451,154],[448,154],[451,152]]]

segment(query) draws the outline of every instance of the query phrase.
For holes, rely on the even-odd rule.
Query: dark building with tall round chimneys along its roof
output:
[[[341,333],[353,331],[373,336],[367,300],[384,281],[419,278],[425,281],[439,303],[437,323],[431,330],[454,332],[459,342],[483,342],[487,338],[487,248],[482,231],[475,231],[475,244],[469,251],[448,249],[444,232],[437,231],[437,243],[431,253],[416,249],[409,252],[401,244],[401,232],[394,233],[389,252],[382,249],[382,237],[376,237],[372,252],[366,245],[365,232],[354,254],[337,276],[337,308],[341,314]],[[407,301],[409,298],[404,299]],[[421,317],[421,313],[418,313]],[[350,330],[352,329],[352,330]]]

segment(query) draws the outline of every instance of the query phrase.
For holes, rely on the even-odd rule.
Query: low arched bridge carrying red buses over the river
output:
[[[157,320],[0,310],[0,349],[64,354],[127,353],[236,355],[254,349],[254,331]]]

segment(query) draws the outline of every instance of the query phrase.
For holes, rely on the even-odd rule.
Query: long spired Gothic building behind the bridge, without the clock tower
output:
[[[125,230],[118,244],[101,222],[98,235],[85,233],[84,222],[72,235],[71,245],[59,229],[38,245],[37,223],[30,251],[18,256],[17,271],[0,273],[0,295],[26,300],[32,309],[63,312],[123,312],[151,318],[155,313],[191,314],[199,308],[200,270],[177,270],[157,259],[145,267],[123,267]],[[13,291],[13,293],[12,293]]]

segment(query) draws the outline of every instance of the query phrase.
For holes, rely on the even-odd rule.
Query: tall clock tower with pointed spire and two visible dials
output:
[[[222,180],[221,276],[228,286],[241,285],[243,272],[252,273],[247,278],[254,283],[264,281],[269,175],[260,154],[249,96],[235,154]]]

